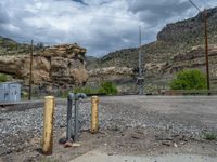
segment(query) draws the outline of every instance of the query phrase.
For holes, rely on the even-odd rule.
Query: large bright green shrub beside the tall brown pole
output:
[[[178,72],[170,83],[171,90],[204,90],[206,78],[197,69],[188,69]]]

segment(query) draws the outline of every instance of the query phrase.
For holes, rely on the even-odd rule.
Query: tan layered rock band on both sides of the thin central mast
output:
[[[217,86],[217,46],[209,45],[209,76],[212,87]],[[166,57],[164,54],[161,57]],[[153,60],[153,62],[151,62]],[[204,45],[193,46],[186,53],[175,54],[168,59],[150,59],[144,63],[144,79],[145,85],[157,85],[162,89],[167,89],[169,82],[175,75],[182,69],[201,69],[205,72],[205,50]],[[88,71],[88,83],[102,81],[113,81],[117,83],[124,83],[125,81],[135,82],[138,71],[135,68],[127,67],[104,67],[97,68]]]

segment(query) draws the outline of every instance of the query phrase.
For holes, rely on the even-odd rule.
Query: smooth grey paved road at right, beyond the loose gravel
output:
[[[217,129],[217,96],[118,96],[102,97],[101,104],[112,109],[118,107],[119,112],[138,111],[138,117],[145,112],[144,116],[158,116],[190,126]]]

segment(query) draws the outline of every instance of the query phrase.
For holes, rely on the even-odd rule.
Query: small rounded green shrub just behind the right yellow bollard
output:
[[[118,91],[112,82],[104,82],[100,85],[99,93],[106,95],[115,95],[118,93]]]

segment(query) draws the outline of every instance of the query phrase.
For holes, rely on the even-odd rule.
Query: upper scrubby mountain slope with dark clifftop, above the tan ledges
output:
[[[217,43],[217,8],[207,10],[208,41]],[[142,46],[143,62],[170,62],[175,55],[182,54],[192,46],[204,43],[204,18],[200,13],[193,18],[168,24],[157,35],[157,40]],[[111,65],[137,67],[138,49],[124,49],[111,52],[101,59],[101,67]]]

